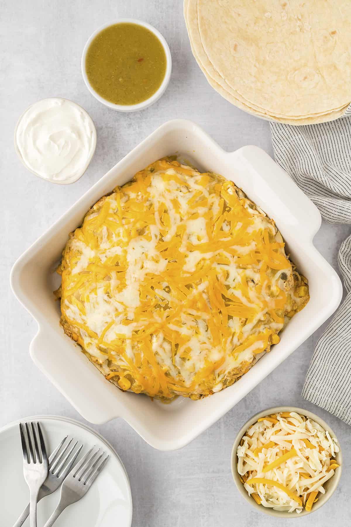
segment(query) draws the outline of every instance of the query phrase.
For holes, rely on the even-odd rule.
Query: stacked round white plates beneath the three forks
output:
[[[40,421],[45,445],[50,452],[65,435],[75,437],[84,444],[82,455],[93,445],[110,455],[104,469],[87,494],[77,503],[68,506],[55,527],[130,527],[132,501],[128,476],[118,454],[94,430],[73,419],[56,416],[25,417],[21,422]],[[29,488],[23,477],[23,457],[20,440],[20,421],[0,430],[0,525],[11,527],[29,502]],[[44,525],[58,504],[60,490],[44,497],[38,504],[37,524]],[[117,521],[118,519],[118,521]],[[27,519],[23,524],[29,526]]]

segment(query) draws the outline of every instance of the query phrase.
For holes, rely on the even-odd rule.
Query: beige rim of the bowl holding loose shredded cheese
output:
[[[325,494],[321,494],[320,496],[318,496],[318,502],[315,504],[315,506],[312,508],[311,511],[306,511],[306,509],[303,509],[300,513],[297,513],[297,512],[275,511],[273,509],[270,509],[270,508],[267,508],[267,507],[263,507],[262,505],[259,505],[258,503],[256,503],[249,496],[249,494],[246,492],[246,490],[244,489],[243,484],[240,481],[240,475],[239,475],[239,472],[238,472],[238,470],[236,468],[237,467],[236,450],[238,448],[238,445],[239,445],[239,443],[241,441],[242,436],[244,435],[246,430],[248,430],[248,428],[251,425],[253,425],[255,422],[257,422],[257,419],[260,419],[261,417],[265,417],[266,415],[269,415],[269,414],[276,414],[276,413],[279,413],[279,412],[296,412],[298,414],[302,414],[302,415],[305,415],[306,417],[314,419],[314,421],[316,421],[325,430],[327,430],[329,432],[331,437],[335,437],[336,438],[338,446],[340,448],[339,452],[335,456],[336,460],[337,460],[337,462],[338,462],[338,464],[340,466],[338,467],[338,470],[335,472],[334,476],[330,478],[330,480],[329,480],[330,483],[329,483],[328,489],[326,490],[326,493]],[[333,495],[333,493],[336,490],[336,487],[339,484],[340,477],[341,477],[341,470],[342,470],[342,467],[343,467],[343,463],[342,462],[343,462],[343,455],[341,453],[340,443],[339,443],[339,441],[337,439],[336,434],[333,432],[333,430],[331,430],[330,426],[325,421],[323,421],[323,419],[321,419],[318,415],[316,415],[316,414],[314,414],[312,412],[309,412],[308,410],[305,410],[303,408],[298,408],[296,406],[275,406],[273,408],[267,408],[267,409],[259,412],[258,414],[255,414],[253,417],[251,417],[241,427],[240,431],[238,432],[238,434],[235,437],[235,441],[233,443],[232,452],[231,452],[231,469],[232,469],[233,480],[234,480],[234,483],[235,483],[238,491],[244,497],[244,499],[248,503],[250,503],[251,506],[253,506],[256,510],[258,510],[260,512],[263,512],[263,513],[268,514],[270,516],[275,516],[276,518],[285,518],[285,519],[288,519],[288,518],[301,518],[302,516],[307,516],[308,514],[311,514],[312,512],[315,512],[318,509],[320,509],[320,507],[322,505],[324,505],[329,500],[329,498]]]

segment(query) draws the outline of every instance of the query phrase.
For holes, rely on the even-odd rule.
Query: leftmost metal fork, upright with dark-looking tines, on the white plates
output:
[[[36,527],[36,500],[39,489],[48,475],[48,456],[46,455],[45,443],[40,424],[36,423],[37,432],[34,423],[31,423],[34,448],[31,439],[31,433],[28,423],[25,428],[20,423],[20,434],[23,451],[23,474],[24,479],[30,490],[30,527]],[[39,441],[38,437],[39,436]]]

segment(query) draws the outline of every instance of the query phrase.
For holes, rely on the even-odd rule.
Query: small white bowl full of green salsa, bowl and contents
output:
[[[84,82],[98,101],[119,112],[136,112],[165,92],[172,57],[155,27],[120,18],[90,36],[81,67]]]

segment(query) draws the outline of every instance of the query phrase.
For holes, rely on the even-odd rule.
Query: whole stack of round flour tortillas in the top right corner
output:
[[[227,101],[299,125],[351,102],[351,1],[184,0],[192,51]]]

